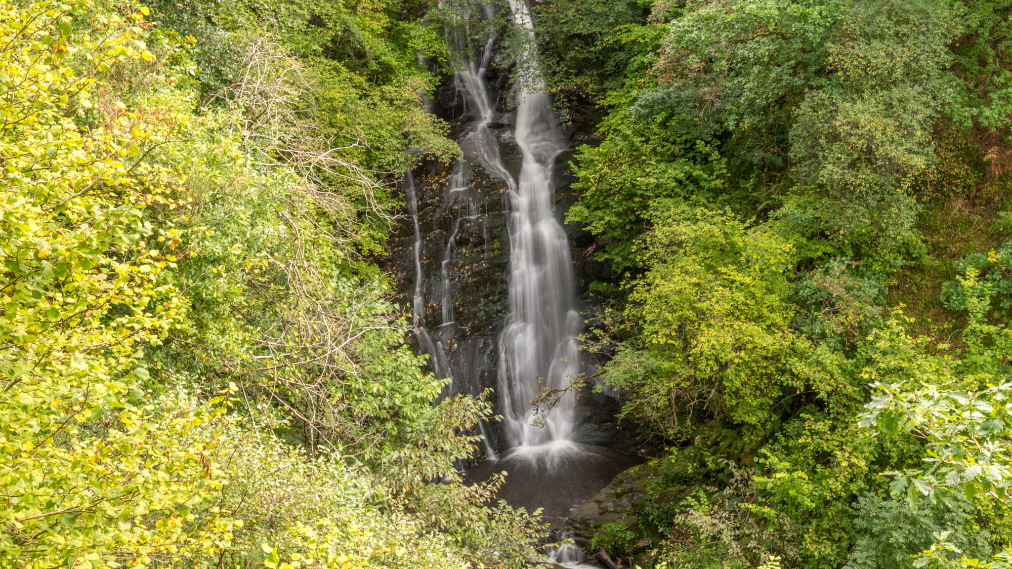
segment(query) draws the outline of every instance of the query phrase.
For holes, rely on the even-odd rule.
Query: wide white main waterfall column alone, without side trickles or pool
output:
[[[533,22],[522,0],[510,0],[514,23],[528,33]],[[566,392],[532,425],[531,401],[539,387],[564,388],[579,373],[574,336],[582,328],[569,241],[556,218],[553,167],[566,141],[551,110],[533,50],[520,62],[515,140],[523,162],[510,184],[510,312],[499,342],[499,393],[510,445],[566,448],[575,426],[575,398]]]

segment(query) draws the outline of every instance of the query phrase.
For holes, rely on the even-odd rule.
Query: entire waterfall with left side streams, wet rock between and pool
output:
[[[538,417],[532,400],[538,388],[563,390],[580,371],[574,337],[582,329],[582,318],[577,311],[570,244],[555,209],[553,181],[557,157],[568,145],[551,110],[533,42],[517,58],[519,81],[512,91],[515,111],[502,114],[497,99],[490,96],[492,81],[486,73],[495,55],[492,35],[498,20],[493,18],[493,5],[478,4],[481,1],[440,1],[450,51],[455,55],[455,93],[447,97],[442,92],[437,101],[443,109],[451,108],[454,117],[460,116],[463,101],[465,121],[454,120],[465,128],[456,138],[463,156],[441,184],[439,207],[423,209],[420,225],[429,228],[423,234],[424,243],[414,186],[406,183],[415,222],[411,247],[415,256],[412,268],[407,266],[412,259],[399,257],[403,264],[398,270],[415,271],[414,313],[420,347],[432,355],[437,375],[452,375],[449,393],[478,395],[494,378],[496,412],[503,419],[498,425],[484,421],[477,425],[486,435],[490,460],[468,465],[466,482],[508,473],[497,497],[531,512],[543,508],[542,521],[558,524],[616,474],[643,461],[589,443],[603,437],[587,436],[582,429],[578,437],[576,400],[568,392],[540,417],[543,426],[533,424]],[[510,4],[515,28],[532,39],[526,6],[521,0]],[[481,33],[472,32],[476,19],[483,20]],[[509,124],[513,124],[512,132],[507,131]],[[427,180],[446,175],[441,166],[430,171],[432,177]],[[493,198],[500,192],[503,201]],[[430,193],[424,197],[426,205],[432,202]],[[505,242],[508,249],[501,249],[498,245]],[[423,247],[427,253],[419,257]],[[429,280],[423,270],[432,273]],[[427,288],[426,282],[430,283]],[[436,304],[441,310],[430,310]],[[426,332],[421,325],[424,316],[441,317],[441,322]],[[497,456],[489,435],[509,450]],[[585,554],[572,545],[549,552],[549,557],[557,566],[589,569],[582,564]]]

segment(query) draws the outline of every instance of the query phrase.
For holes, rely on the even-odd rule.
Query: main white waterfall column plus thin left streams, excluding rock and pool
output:
[[[533,24],[526,5],[521,0],[511,0],[510,5],[517,29],[530,33],[532,37]],[[467,20],[474,8],[463,5],[460,9],[460,13],[467,16],[463,20]],[[485,20],[493,16],[491,4],[482,4],[477,9]],[[410,173],[405,181],[415,230],[413,316],[419,344],[430,355],[436,376],[450,377],[451,365],[441,340],[456,333],[456,283],[452,272],[456,239],[466,231],[466,226],[485,223],[481,219],[485,204],[469,187],[471,168],[478,165],[501,182],[508,210],[509,312],[498,336],[498,346],[493,348],[498,354],[497,393],[499,411],[503,416],[503,434],[509,446],[524,456],[534,448],[573,449],[569,441],[573,438],[576,424],[575,398],[568,392],[563,394],[559,403],[543,418],[543,425],[533,424],[532,405],[539,388],[565,388],[579,374],[579,351],[573,338],[581,331],[582,318],[576,310],[573,259],[569,241],[557,219],[553,184],[555,160],[567,148],[566,140],[552,112],[544,78],[531,49],[520,58],[518,66],[519,80],[515,91],[518,106],[513,139],[522,161],[519,176],[514,178],[503,163],[498,137],[490,129],[497,112],[489,97],[486,73],[496,38],[486,34],[480,42],[473,42],[470,32],[447,31],[453,37],[457,54],[453,84],[462,95],[470,126],[459,139],[463,157],[453,165],[443,192],[442,206],[436,213],[438,218],[448,211],[453,219],[441,244],[441,262],[433,267],[438,272],[438,289],[433,287],[430,292],[433,300],[440,305],[441,323],[431,333],[425,329],[422,310],[426,302],[426,280],[421,262],[424,244]],[[485,253],[488,254],[487,226],[483,228],[483,233]],[[479,347],[467,339],[454,339],[454,342],[455,350]],[[454,363],[453,370],[457,367],[458,363]],[[479,427],[484,433],[485,425],[480,424]],[[486,445],[488,456],[494,458],[488,440]],[[517,453],[512,455],[518,456]]]

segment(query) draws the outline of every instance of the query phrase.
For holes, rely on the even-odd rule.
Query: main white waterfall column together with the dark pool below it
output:
[[[522,0],[510,0],[514,24],[532,40],[533,23]],[[569,240],[555,209],[554,166],[567,142],[551,110],[533,43],[518,69],[513,135],[520,157],[517,182],[507,181],[509,202],[509,314],[499,336],[497,391],[511,449],[498,462],[469,470],[469,480],[507,472],[499,497],[515,507],[543,508],[561,523],[619,472],[642,459],[577,441],[576,401],[565,392],[535,424],[531,400],[541,387],[563,390],[576,378],[580,353],[574,337],[582,319]],[[563,548],[556,561],[578,566],[579,548]],[[566,566],[566,565],[564,565]]]

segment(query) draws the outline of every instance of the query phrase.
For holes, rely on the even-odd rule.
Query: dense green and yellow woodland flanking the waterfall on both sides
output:
[[[527,567],[376,258],[461,21],[0,0],[0,567]],[[1012,567],[1012,2],[543,0],[655,568]],[[511,59],[512,58],[512,59]],[[515,66],[514,66],[515,67]],[[436,483],[442,481],[442,483]],[[646,544],[646,545],[645,545]]]

